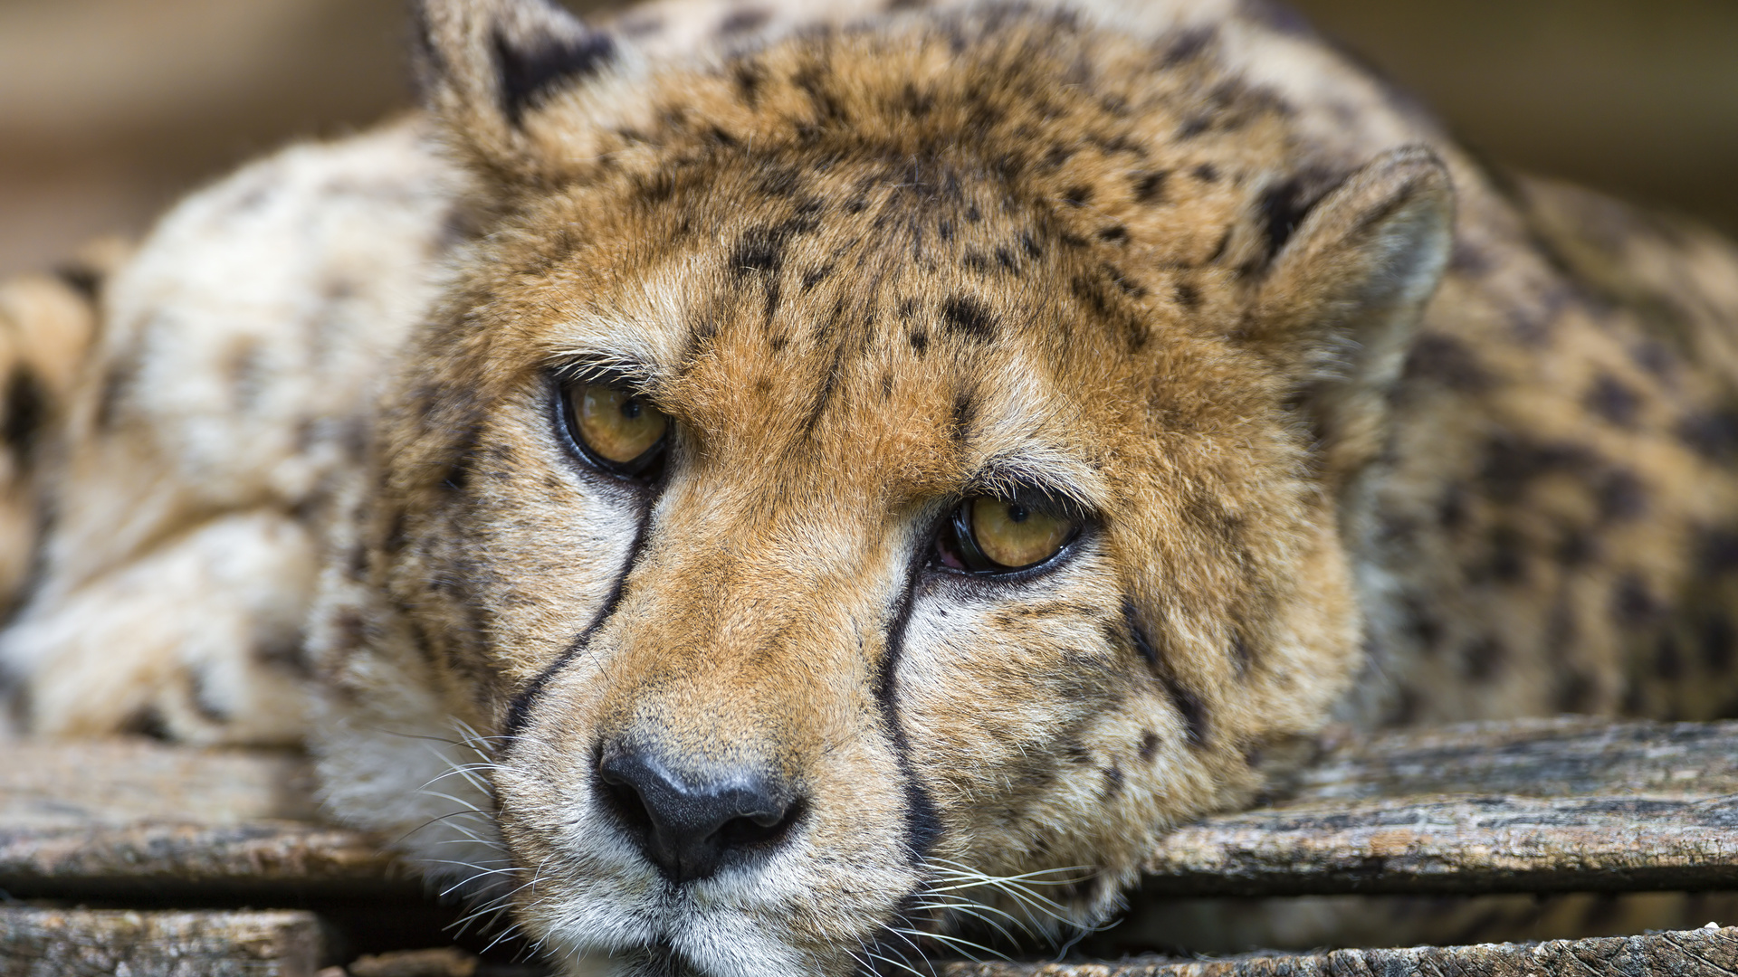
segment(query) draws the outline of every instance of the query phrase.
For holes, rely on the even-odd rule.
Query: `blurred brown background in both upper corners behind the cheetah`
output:
[[[1293,5],[1489,156],[1738,233],[1738,0]],[[0,275],[408,104],[407,7],[0,0]]]

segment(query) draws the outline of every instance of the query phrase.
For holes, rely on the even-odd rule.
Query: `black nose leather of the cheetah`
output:
[[[681,774],[657,753],[607,746],[603,794],[652,864],[673,881],[695,881],[725,861],[775,848],[801,814],[789,784],[766,770]]]

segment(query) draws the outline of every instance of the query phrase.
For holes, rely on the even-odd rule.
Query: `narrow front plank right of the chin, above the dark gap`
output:
[[[1286,807],[1170,833],[1154,895],[1738,888],[1735,798],[1408,798]]]

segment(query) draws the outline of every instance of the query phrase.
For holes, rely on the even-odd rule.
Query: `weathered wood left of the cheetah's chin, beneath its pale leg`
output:
[[[318,824],[292,753],[7,744],[0,890],[12,895],[417,892],[379,840]]]

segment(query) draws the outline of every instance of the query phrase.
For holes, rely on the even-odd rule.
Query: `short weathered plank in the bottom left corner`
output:
[[[313,977],[313,913],[0,907],[0,977]]]

